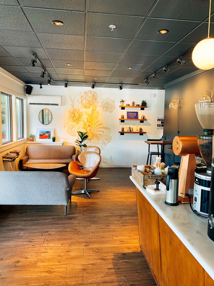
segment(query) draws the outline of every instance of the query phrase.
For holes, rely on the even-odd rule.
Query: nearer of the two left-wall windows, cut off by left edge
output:
[[[12,141],[11,96],[1,93],[2,144]]]

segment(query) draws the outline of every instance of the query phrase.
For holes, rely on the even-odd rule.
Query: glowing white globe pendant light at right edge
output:
[[[192,60],[195,66],[201,70],[214,68],[214,38],[201,40],[194,47]]]

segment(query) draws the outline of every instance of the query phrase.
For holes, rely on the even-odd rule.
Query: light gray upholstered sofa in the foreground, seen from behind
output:
[[[76,176],[62,172],[0,171],[0,205],[64,205]]]

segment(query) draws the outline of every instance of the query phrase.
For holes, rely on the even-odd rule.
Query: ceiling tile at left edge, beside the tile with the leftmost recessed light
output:
[[[0,15],[2,30],[33,31],[20,7],[0,6]]]

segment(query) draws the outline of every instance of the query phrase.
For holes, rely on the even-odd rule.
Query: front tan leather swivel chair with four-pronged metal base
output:
[[[76,175],[76,178],[84,179],[84,188],[81,188],[81,190],[77,192],[73,192],[72,195],[86,194],[90,198],[89,193],[98,192],[99,190],[88,190],[86,187],[87,180],[96,176],[101,162],[101,156],[97,152],[88,151],[79,154],[78,159],[83,166],[83,169],[81,169],[76,161],[72,161],[68,165],[68,171],[70,174]]]

